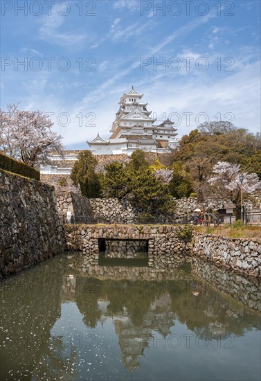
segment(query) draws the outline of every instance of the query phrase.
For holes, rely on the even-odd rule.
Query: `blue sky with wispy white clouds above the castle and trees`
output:
[[[132,85],[179,136],[260,132],[260,1],[1,1],[1,107],[39,109],[67,149],[108,138]]]

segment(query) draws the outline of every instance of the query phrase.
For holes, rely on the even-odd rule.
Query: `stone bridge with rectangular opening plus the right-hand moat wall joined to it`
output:
[[[64,229],[67,249],[82,251],[90,265],[98,265],[103,255],[106,260],[143,258],[143,265],[155,269],[174,268],[186,254],[192,254],[217,266],[261,278],[259,238],[201,234],[192,232],[188,225],[78,224],[65,225]],[[134,263],[129,261],[129,265]]]

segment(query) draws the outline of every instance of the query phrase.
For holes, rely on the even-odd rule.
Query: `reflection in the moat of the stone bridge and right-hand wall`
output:
[[[191,278],[197,276],[215,287],[216,290],[233,296],[247,307],[261,311],[260,278],[246,277],[244,274],[232,272],[231,269],[217,267],[214,263],[198,256],[175,256],[171,267],[165,266],[157,270],[153,267],[91,266],[88,254],[75,256],[72,253],[66,256],[66,260],[69,263],[67,279],[69,274],[73,274],[73,277],[89,279],[128,280],[134,281],[138,285],[141,294],[146,290],[151,290],[151,292],[172,292],[177,295],[188,290],[188,287],[192,292],[195,287],[192,285],[190,287],[188,283],[193,283]],[[182,279],[182,282],[176,282],[178,279]],[[161,282],[153,283],[152,287],[150,281],[155,280]]]

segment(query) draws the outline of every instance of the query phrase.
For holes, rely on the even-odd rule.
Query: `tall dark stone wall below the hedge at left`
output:
[[[64,251],[54,188],[0,170],[0,277]]]

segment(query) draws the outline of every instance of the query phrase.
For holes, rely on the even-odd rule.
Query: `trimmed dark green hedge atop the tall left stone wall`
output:
[[[3,170],[8,170],[12,173],[17,173],[17,175],[22,175],[29,177],[30,179],[38,180],[40,179],[39,170],[28,166],[22,161],[12,159],[11,157],[1,154],[0,152],[0,168]]]

